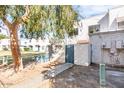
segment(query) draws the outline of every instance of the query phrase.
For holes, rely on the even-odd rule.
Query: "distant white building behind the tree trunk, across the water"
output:
[[[30,48],[32,46],[32,51],[40,51],[40,52],[47,52],[48,51],[48,45],[49,41],[47,40],[36,40],[36,39],[20,39],[19,41],[20,48],[22,51],[24,51],[24,48]],[[40,46],[39,49],[37,46]],[[10,39],[2,39],[0,40],[0,50],[3,50],[3,48],[6,47],[10,50]]]

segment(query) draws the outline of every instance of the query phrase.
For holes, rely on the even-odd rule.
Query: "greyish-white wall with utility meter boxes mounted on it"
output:
[[[124,65],[124,31],[93,33],[90,42],[92,63]]]

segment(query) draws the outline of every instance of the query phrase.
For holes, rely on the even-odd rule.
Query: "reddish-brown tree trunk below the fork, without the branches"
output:
[[[13,25],[12,29],[10,30],[10,47],[11,47],[15,72],[18,72],[20,68],[23,69],[17,31],[18,31],[18,25]]]

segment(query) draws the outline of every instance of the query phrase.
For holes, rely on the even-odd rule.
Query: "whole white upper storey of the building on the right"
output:
[[[124,30],[124,27],[121,29],[118,28],[118,22],[117,22],[117,19],[119,17],[124,17],[123,11],[124,11],[124,6],[118,6],[108,10],[108,12],[106,12],[105,14],[96,15],[96,16],[81,20],[77,25],[78,39],[89,40],[88,27],[92,25],[100,25],[99,32]]]

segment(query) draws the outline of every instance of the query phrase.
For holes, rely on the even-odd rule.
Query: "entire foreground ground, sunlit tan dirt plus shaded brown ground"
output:
[[[60,63],[61,64],[61,63]],[[78,66],[65,70],[54,78],[42,80],[41,76],[45,71],[59,64],[30,64],[23,71],[13,74],[13,69],[0,70],[0,87],[21,87],[31,86],[38,88],[100,88],[99,67]],[[106,68],[106,83],[104,87],[124,87],[124,68],[119,71],[117,68]],[[31,82],[31,83],[28,83]]]

